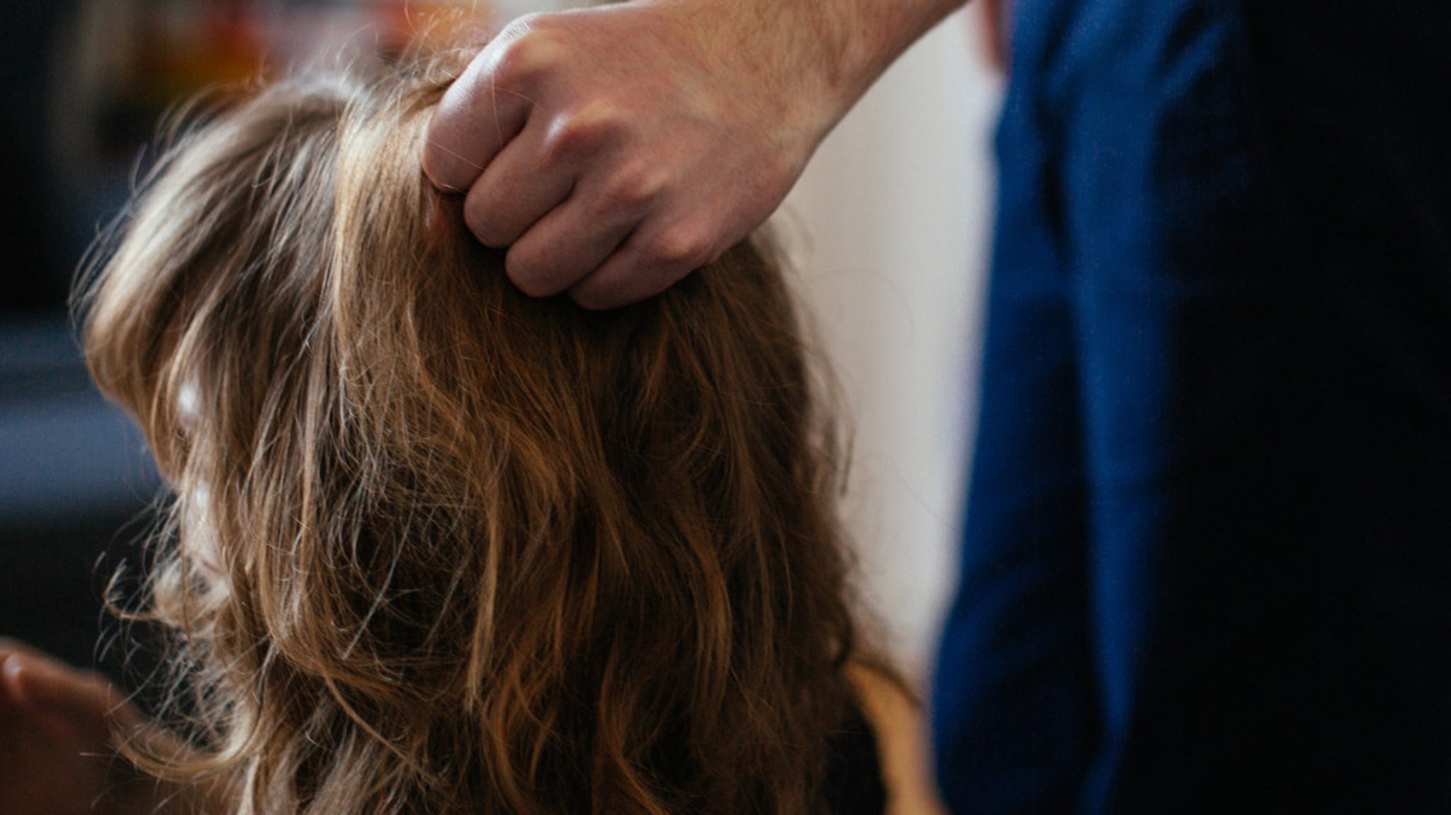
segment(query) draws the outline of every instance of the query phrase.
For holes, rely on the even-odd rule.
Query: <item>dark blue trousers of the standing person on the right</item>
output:
[[[1451,812],[1451,6],[1017,0],[955,812]]]

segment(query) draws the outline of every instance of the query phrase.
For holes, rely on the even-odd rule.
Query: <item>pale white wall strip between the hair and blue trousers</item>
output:
[[[908,674],[956,576],[998,83],[972,9],[905,54],[778,215],[855,429],[847,521],[863,593]]]

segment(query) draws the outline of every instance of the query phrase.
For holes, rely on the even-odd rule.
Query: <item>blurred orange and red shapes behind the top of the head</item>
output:
[[[299,65],[482,41],[492,22],[492,7],[473,0],[91,0],[62,38],[58,90],[71,139],[59,152],[119,158],[181,99]],[[96,139],[74,138],[77,126]]]

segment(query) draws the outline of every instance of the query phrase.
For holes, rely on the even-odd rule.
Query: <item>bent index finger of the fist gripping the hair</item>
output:
[[[505,30],[444,91],[424,139],[424,173],[445,193],[466,193],[528,119],[530,100],[506,78]]]

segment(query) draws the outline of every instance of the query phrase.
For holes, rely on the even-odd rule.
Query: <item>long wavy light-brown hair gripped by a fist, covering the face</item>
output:
[[[418,170],[440,65],[213,115],[93,265],[174,493],[147,613],[202,727],[155,771],[257,815],[817,811],[853,622],[776,262],[521,294]]]

